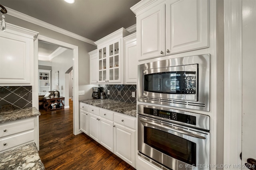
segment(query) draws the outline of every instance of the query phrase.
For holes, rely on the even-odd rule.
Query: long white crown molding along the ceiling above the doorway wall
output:
[[[62,33],[62,34],[67,35],[67,36],[69,36],[69,37],[78,39],[78,40],[80,40],[80,41],[84,41],[84,42],[86,42],[86,43],[95,45],[95,44],[94,44],[94,41],[92,41],[92,40],[90,40],[90,39],[88,39],[88,38],[82,37],[82,36],[80,36],[80,35],[77,35],[77,34],[75,34],[75,33],[72,33],[72,32],[70,32],[70,31],[67,31],[67,30],[65,30],[65,29],[62,29],[62,28],[60,28],[60,27],[56,27],[56,26],[54,26],[54,25],[52,25],[52,24],[50,24],[50,23],[47,23],[47,22],[38,20],[38,19],[36,19],[36,18],[33,18],[33,17],[31,17],[31,16],[28,16],[28,15],[26,15],[26,14],[23,14],[23,13],[21,13],[21,12],[18,12],[18,11],[16,11],[16,10],[13,10],[13,9],[11,9],[11,8],[6,7],[6,9],[7,9],[7,11],[8,11],[7,14],[10,15],[10,16],[14,16],[14,17],[19,18],[19,19],[21,19],[21,20],[34,23],[34,24],[36,24],[36,25],[39,25],[39,26],[41,26],[41,27],[45,27],[45,28],[50,29],[50,30],[52,30],[52,31],[56,31],[56,32],[58,32],[58,33]]]

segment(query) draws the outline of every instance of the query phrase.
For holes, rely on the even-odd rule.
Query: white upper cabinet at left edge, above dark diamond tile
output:
[[[0,85],[33,85],[34,37],[38,33],[8,24],[0,31]]]

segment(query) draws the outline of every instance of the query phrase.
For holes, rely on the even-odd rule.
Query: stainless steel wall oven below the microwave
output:
[[[138,114],[139,156],[162,169],[207,169],[202,165],[210,164],[209,116],[140,104]]]

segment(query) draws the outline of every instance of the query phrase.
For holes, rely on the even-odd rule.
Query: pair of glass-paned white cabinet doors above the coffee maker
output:
[[[99,83],[121,82],[120,44],[121,39],[98,49]]]

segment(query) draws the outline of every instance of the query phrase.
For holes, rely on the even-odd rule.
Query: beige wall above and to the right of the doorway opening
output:
[[[67,35],[52,31],[19,18],[15,18],[13,16],[6,15],[6,22],[37,31],[40,35],[78,46],[78,90],[85,90],[86,92],[85,95],[79,96],[79,100],[91,98],[92,94],[90,88],[92,85],[90,85],[90,57],[88,52],[96,49],[97,47],[95,45],[74,39]]]

